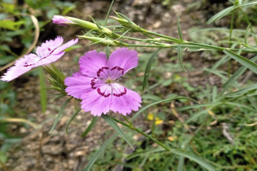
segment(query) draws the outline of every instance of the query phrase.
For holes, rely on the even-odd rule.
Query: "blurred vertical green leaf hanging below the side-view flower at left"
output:
[[[39,81],[40,81],[40,102],[41,102],[42,112],[45,113],[47,109],[47,90],[45,85],[43,67],[39,67]]]

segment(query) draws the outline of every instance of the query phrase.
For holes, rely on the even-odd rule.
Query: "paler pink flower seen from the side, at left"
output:
[[[25,55],[24,58],[19,58],[15,62],[15,66],[7,69],[7,72],[2,76],[1,80],[8,82],[21,76],[25,72],[28,72],[32,68],[55,62],[63,56],[65,53],[63,50],[73,46],[77,42],[78,39],[71,40],[61,46],[63,38],[60,36],[57,36],[55,40],[46,41],[45,43],[42,43],[41,46],[37,47],[37,55],[31,53]]]

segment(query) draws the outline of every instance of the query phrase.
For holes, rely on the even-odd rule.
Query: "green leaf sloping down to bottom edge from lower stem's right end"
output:
[[[175,149],[170,149],[170,152],[173,154],[177,154],[177,155],[189,158],[189,159],[195,161],[196,163],[200,164],[202,167],[206,168],[209,171],[217,171],[212,165],[210,165],[206,161],[202,160],[200,157],[197,157],[192,154],[185,153],[185,152],[181,152],[181,151],[178,151]]]

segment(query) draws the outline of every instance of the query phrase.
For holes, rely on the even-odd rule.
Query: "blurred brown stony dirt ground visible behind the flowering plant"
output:
[[[212,4],[212,1],[200,3],[196,0],[174,1],[170,6],[162,5],[161,0],[130,0],[116,1],[113,5],[115,11],[125,14],[131,21],[139,24],[153,32],[166,34],[172,37],[178,37],[177,33],[177,15],[180,11],[180,25],[185,40],[190,40],[188,29],[192,27],[211,27],[205,25],[205,22],[216,13],[224,4]],[[69,16],[87,19],[91,15],[95,19],[104,19],[108,11],[110,1],[79,1],[78,10],[81,14],[70,13]],[[194,5],[194,4],[195,5]],[[194,5],[190,8],[189,5]],[[111,13],[113,15],[113,13]],[[228,27],[229,22],[222,20],[216,22],[216,26],[223,25]],[[81,31],[75,27],[58,26],[53,23],[47,25],[48,30],[41,32],[41,42],[47,38],[56,36],[52,32],[64,37],[66,41],[75,38],[75,35],[81,34]],[[50,35],[51,33],[51,35]],[[49,36],[50,35],[50,36]],[[39,42],[38,44],[41,44]],[[86,45],[87,40],[79,40],[78,44]],[[57,68],[62,69],[65,75],[69,75],[71,68],[73,72],[78,71],[78,64],[74,65],[70,61],[75,56],[79,57],[88,50],[94,49],[94,46],[79,48],[67,52],[60,60],[55,62]],[[149,50],[146,48],[146,51]],[[161,52],[158,58],[165,62],[165,58],[172,50]],[[192,72],[183,72],[187,75],[191,86],[216,84],[220,86],[221,81],[214,75],[204,75],[202,68],[208,68],[214,60],[206,59],[201,56],[201,52],[186,52],[184,61],[190,62],[194,68]],[[23,82],[22,84],[19,84]],[[93,130],[84,138],[80,135],[90,124],[93,115],[81,111],[69,126],[69,133],[65,132],[65,127],[70,117],[79,107],[79,103],[72,100],[65,109],[63,116],[59,120],[55,130],[49,134],[55,117],[60,107],[68,98],[60,98],[48,103],[47,112],[42,114],[39,97],[39,80],[35,77],[23,76],[16,81],[18,103],[16,109],[21,113],[27,113],[27,119],[31,119],[39,128],[23,127],[21,124],[10,125],[10,132],[24,137],[23,141],[16,143],[9,151],[9,160],[6,163],[10,171],[81,171],[87,164],[87,156],[100,147],[101,144],[112,134],[113,129],[99,117]],[[48,91],[48,93],[56,93]],[[183,94],[183,93],[182,93]],[[49,99],[51,97],[49,96]],[[142,104],[144,105],[144,104]],[[121,117],[118,114],[111,113],[115,117]],[[133,113],[131,114],[131,116]],[[123,120],[122,118],[120,118]],[[143,116],[139,117],[135,123],[144,130],[148,125],[144,123]],[[1,169],[0,169],[1,170]]]

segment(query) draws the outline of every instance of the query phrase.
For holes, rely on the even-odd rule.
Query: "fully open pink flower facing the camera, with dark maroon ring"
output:
[[[137,52],[121,48],[109,60],[103,52],[89,51],[79,59],[80,72],[67,77],[68,95],[82,99],[81,108],[94,116],[109,110],[123,115],[141,107],[141,97],[135,91],[118,84],[118,78],[138,64]]]

